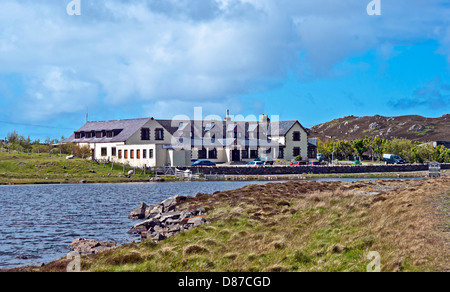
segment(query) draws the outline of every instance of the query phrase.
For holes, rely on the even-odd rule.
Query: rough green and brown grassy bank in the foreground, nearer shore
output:
[[[189,198],[211,224],[82,259],[84,271],[448,271],[450,178],[290,181]],[[43,268],[65,270],[67,260]]]

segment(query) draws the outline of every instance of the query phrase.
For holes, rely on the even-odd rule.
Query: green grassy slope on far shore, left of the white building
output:
[[[122,165],[98,164],[85,159],[66,160],[66,155],[0,152],[0,184],[52,184],[143,182],[148,175],[137,170],[131,178],[121,177]],[[132,168],[125,167],[125,173]]]

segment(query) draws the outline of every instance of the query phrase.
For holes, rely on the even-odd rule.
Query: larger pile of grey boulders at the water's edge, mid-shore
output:
[[[206,214],[204,208],[194,211],[177,210],[177,205],[186,199],[186,197],[174,196],[155,205],[140,204],[130,213],[128,218],[145,219],[145,221],[134,225],[128,233],[138,234],[142,239],[151,238],[161,241],[183,231],[207,224],[208,221],[203,217]]]

